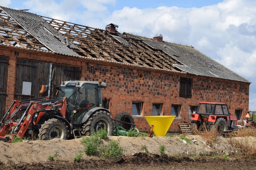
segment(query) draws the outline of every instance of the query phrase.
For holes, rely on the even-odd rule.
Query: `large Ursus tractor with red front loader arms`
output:
[[[60,87],[42,85],[44,94],[56,88],[56,97],[14,100],[0,122],[0,140],[11,142],[15,136],[35,137],[41,140],[90,136],[105,128],[113,134],[114,122],[108,109],[103,108],[102,88],[107,85],[97,81],[62,81]],[[18,119],[17,113],[22,111]],[[8,130],[12,136],[7,136]]]

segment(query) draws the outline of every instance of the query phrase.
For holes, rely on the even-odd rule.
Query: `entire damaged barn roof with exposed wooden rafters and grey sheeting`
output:
[[[118,26],[108,24],[107,27]],[[110,32],[2,6],[0,6],[0,43],[49,50],[67,56],[82,56],[249,82],[191,46],[157,42],[151,38],[117,31]]]

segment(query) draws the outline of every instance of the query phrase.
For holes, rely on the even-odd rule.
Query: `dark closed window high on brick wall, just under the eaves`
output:
[[[192,79],[180,78],[180,97],[192,98]]]

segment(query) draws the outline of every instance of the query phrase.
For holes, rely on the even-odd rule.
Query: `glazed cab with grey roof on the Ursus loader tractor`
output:
[[[57,97],[67,98],[67,120],[74,124],[81,124],[89,110],[102,107],[102,88],[105,87],[107,85],[104,82],[61,82]]]

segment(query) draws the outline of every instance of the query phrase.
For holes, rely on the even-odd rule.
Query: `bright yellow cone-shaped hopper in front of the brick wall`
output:
[[[154,125],[153,131],[156,136],[164,136],[172,124],[175,116],[144,116],[148,124]]]

